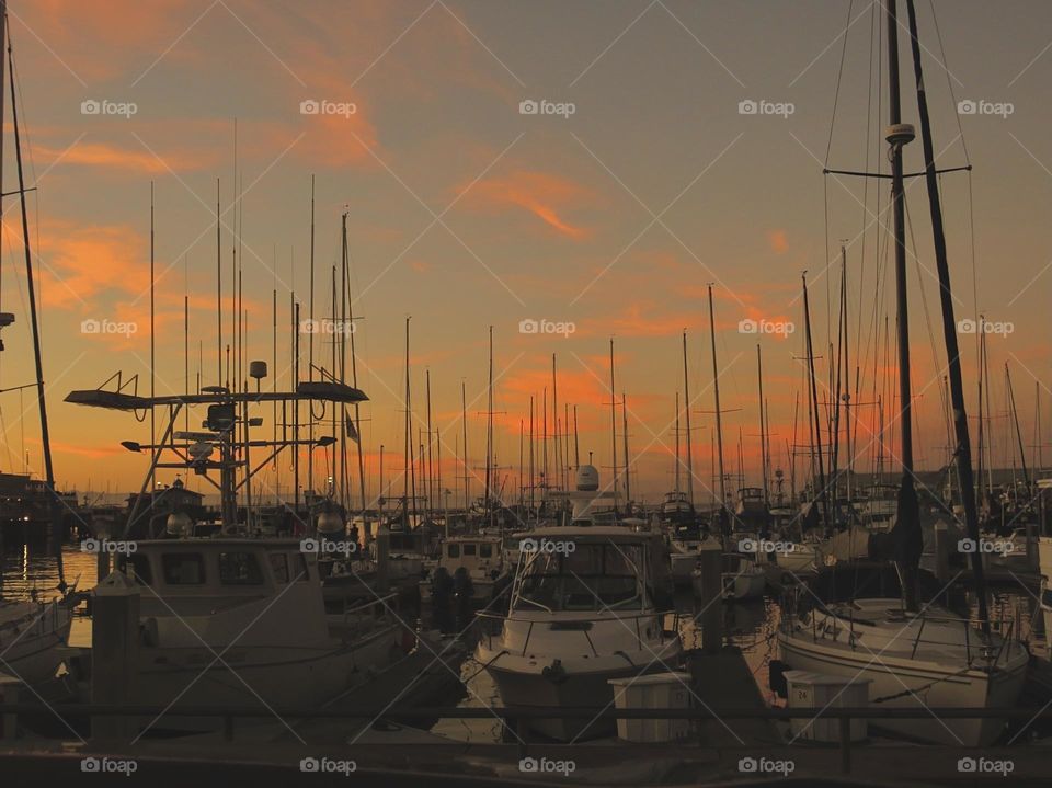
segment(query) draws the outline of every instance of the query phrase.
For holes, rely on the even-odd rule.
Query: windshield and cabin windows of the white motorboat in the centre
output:
[[[516,610],[642,609],[640,545],[582,545],[523,553]]]

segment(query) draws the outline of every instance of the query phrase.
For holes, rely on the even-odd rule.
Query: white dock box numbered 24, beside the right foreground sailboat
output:
[[[814,709],[821,711],[828,707],[868,708],[869,678],[831,676],[809,671],[786,671],[790,709]],[[833,717],[809,719],[794,718],[789,726],[792,735],[803,741],[837,744],[841,741],[841,721]],[[865,719],[851,719],[851,741],[858,742],[869,735]]]

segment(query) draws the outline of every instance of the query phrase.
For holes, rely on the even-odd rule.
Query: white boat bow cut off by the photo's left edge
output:
[[[65,599],[0,601],[0,673],[31,685],[54,676],[71,621]]]

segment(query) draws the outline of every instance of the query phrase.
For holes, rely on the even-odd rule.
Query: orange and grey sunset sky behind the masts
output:
[[[1008,363],[1029,465],[1052,426],[1052,8],[1040,0],[935,0],[934,10],[933,4],[918,2],[938,164],[974,167],[971,175],[941,178],[957,318],[983,312],[1004,329],[988,339],[994,459],[1013,461]],[[250,332],[244,357],[271,361],[276,289],[276,372],[279,385],[291,385],[289,301],[295,293],[308,317],[312,175],[317,318],[330,310],[340,216],[348,213],[374,494],[380,444],[388,481],[403,465],[403,327],[412,316],[413,410],[424,418],[430,369],[443,482],[458,491],[453,502],[461,489],[454,478],[462,473],[461,380],[469,466],[481,478],[490,326],[506,498],[518,483],[519,420],[528,418],[529,397],[539,408],[548,386],[550,402],[552,353],[560,416],[563,403],[578,407],[582,459],[594,452],[608,480],[611,336],[616,395],[624,390],[628,400],[634,496],[654,500],[671,489],[686,329],[694,487],[707,500],[714,426],[708,283],[721,404],[730,411],[728,468],[736,469],[741,436],[746,480],[758,482],[759,343],[773,462],[788,477],[798,392],[798,443],[807,439],[801,271],[809,272],[822,380],[836,339],[842,241],[850,364],[862,366],[856,401],[874,401],[885,317],[894,343],[889,182],[870,180],[867,189],[862,179],[822,174],[826,161],[888,172],[882,13],[880,3],[862,0],[12,0],[26,181],[37,187],[28,196],[30,235],[59,484],[127,491],[146,470],[146,456],[118,443],[147,441],[148,423],[62,398],[117,370],[138,374],[140,393],[149,389],[151,183],[156,385],[159,393],[174,393],[186,385],[187,293],[190,386],[196,386],[198,343],[203,384],[218,382],[217,179],[224,340],[233,323],[230,266],[238,247]],[[900,44],[903,119],[918,123],[904,30]],[[523,102],[540,111],[529,113],[533,105]],[[312,106],[320,111],[302,111]],[[4,192],[18,187],[10,112],[8,95]],[[921,157],[918,135],[906,148],[907,172],[922,169]],[[0,308],[16,322],[3,331],[0,388],[11,389],[32,382],[33,365],[18,199],[7,197],[4,208]],[[907,210],[916,453],[919,467],[937,468],[947,457],[946,350],[923,179],[907,183]],[[572,323],[573,331],[523,333],[524,320]],[[796,330],[744,333],[743,320],[788,321]],[[83,321],[136,330],[84,333]],[[975,336],[960,339],[974,415]],[[329,365],[330,347],[316,342],[318,363]],[[301,349],[306,354],[306,334]],[[889,358],[893,375],[893,352]],[[306,377],[306,362],[301,368]],[[893,377],[877,377],[876,393],[894,388]],[[1037,390],[1042,438],[1034,430]],[[820,387],[820,399],[830,397]],[[897,434],[895,406],[883,401]],[[28,468],[43,472],[32,390],[0,395],[0,468],[22,471],[25,452]],[[878,410],[861,404],[858,413],[857,465],[869,471]],[[270,409],[260,414],[268,434]],[[620,452],[620,411],[617,422]],[[1043,454],[1052,459],[1052,447]],[[289,483],[289,464],[264,480],[271,489]],[[805,466],[798,457],[798,486]],[[478,479],[472,486],[481,491]]]

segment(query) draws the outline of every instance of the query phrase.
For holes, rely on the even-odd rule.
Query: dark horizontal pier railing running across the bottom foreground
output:
[[[9,685],[10,686],[10,685]],[[0,690],[4,689],[0,682]],[[0,698],[4,693],[0,692]],[[216,719],[217,729],[221,726],[224,738],[232,742],[235,723],[240,720],[245,724],[245,720],[260,720],[274,718],[282,720],[362,720],[369,724],[375,720],[397,720],[398,722],[410,723],[414,721],[430,724],[436,719],[499,719],[507,730],[515,732],[518,744],[518,757],[525,758],[529,753],[529,747],[538,745],[540,742],[530,741],[529,721],[535,719],[567,718],[567,719],[586,719],[593,723],[609,722],[613,720],[688,720],[697,723],[694,738],[700,738],[705,744],[705,731],[700,729],[700,723],[706,721],[725,722],[727,720],[767,720],[767,721],[788,721],[794,719],[804,720],[838,720],[839,721],[839,742],[838,750],[841,755],[841,770],[848,774],[851,770],[851,750],[860,744],[851,739],[853,720],[902,720],[902,719],[1000,719],[1000,720],[1024,720],[1032,723],[1038,720],[1052,720],[1052,705],[1045,706],[1038,711],[1032,708],[868,708],[868,707],[828,707],[820,710],[814,709],[791,709],[791,708],[733,708],[733,709],[712,709],[709,707],[677,708],[677,709],[654,709],[654,708],[614,708],[614,707],[547,707],[547,706],[506,706],[506,707],[414,707],[414,708],[369,708],[369,709],[297,709],[297,708],[264,708],[262,706],[243,708],[198,708],[198,707],[172,707],[161,708],[158,706],[108,706],[82,704],[75,707],[59,706],[55,707],[41,703],[0,703],[0,720],[3,721],[3,735],[0,738],[0,745],[3,743],[13,743],[14,732],[19,730],[18,717],[20,715],[30,716],[54,716],[56,713],[78,716],[78,717],[125,717],[125,718],[146,718],[156,719],[160,716],[171,717],[196,717]],[[678,750],[683,754],[682,747],[687,740],[668,742],[668,746]],[[117,744],[117,742],[110,742]],[[804,742],[801,745],[811,744]],[[779,745],[771,745],[771,750]],[[791,746],[784,744],[781,746]],[[942,745],[930,745],[933,750],[946,750]],[[952,747],[954,752],[967,752],[969,747]],[[924,752],[922,749],[919,752]]]

